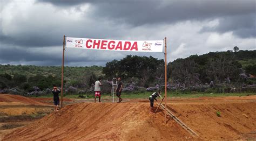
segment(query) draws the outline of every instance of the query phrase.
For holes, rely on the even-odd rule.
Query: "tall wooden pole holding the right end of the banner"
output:
[[[167,52],[166,52],[166,37],[164,38],[164,42],[165,42],[165,100],[164,100],[164,103],[165,103],[165,112],[164,112],[164,122],[165,124],[167,123],[166,122],[166,115],[167,115],[167,59],[166,59],[166,55],[167,55]]]

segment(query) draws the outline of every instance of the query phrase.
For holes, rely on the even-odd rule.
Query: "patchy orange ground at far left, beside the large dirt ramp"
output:
[[[53,106],[44,101],[33,100],[33,98],[19,95],[0,94],[0,140],[6,134],[36,121],[34,119],[29,119],[29,121],[25,119],[24,121],[22,116],[38,115],[52,111]],[[6,122],[6,118],[10,119],[10,121],[7,120],[8,122]],[[12,127],[11,129],[3,129],[2,127],[4,125],[19,126]]]

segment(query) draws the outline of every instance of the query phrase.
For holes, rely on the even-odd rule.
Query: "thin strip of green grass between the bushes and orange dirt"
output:
[[[144,93],[123,93],[122,98],[148,98],[152,92],[144,92]],[[164,95],[164,93],[163,93]],[[167,92],[167,97],[177,97],[177,98],[198,98],[198,97],[221,97],[221,96],[248,96],[248,95],[256,95],[255,93],[220,93],[220,94],[211,94],[211,93],[177,93],[177,92]],[[64,98],[78,98],[78,94],[73,95],[65,95]],[[86,98],[94,98],[94,94],[84,94]],[[52,97],[52,95],[44,95],[44,96],[37,96],[37,97]],[[103,94],[102,98],[111,98],[112,95],[110,94]],[[116,98],[116,96],[115,96]]]

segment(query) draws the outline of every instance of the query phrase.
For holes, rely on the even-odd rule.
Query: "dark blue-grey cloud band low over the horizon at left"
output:
[[[40,66],[60,66],[62,64],[62,50],[53,50],[51,47],[45,47],[46,50],[52,50],[52,52],[44,52],[43,50],[33,51],[35,48],[20,48],[20,47],[8,47],[0,48],[0,61],[5,64],[24,64],[24,65],[40,65]],[[76,62],[76,65],[90,65],[94,60],[90,57],[65,57],[65,65],[72,65]],[[80,64],[80,65],[79,65]],[[95,64],[95,63],[94,63]],[[104,64],[99,64],[104,65]]]

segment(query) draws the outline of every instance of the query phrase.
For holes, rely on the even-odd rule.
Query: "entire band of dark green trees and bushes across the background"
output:
[[[167,65],[169,90],[205,91],[209,88],[255,86],[256,51],[210,52],[177,59]],[[0,65],[0,93],[29,94],[53,85],[60,87],[60,66]],[[111,93],[113,77],[122,77],[124,91],[164,88],[164,60],[127,55],[107,62],[105,67],[65,67],[65,93],[91,93],[94,83],[103,79],[104,93]],[[40,94],[42,94],[40,93]]]

